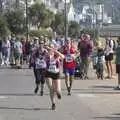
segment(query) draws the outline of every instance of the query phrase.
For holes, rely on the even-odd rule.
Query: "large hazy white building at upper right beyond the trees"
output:
[[[107,0],[106,0],[107,1]],[[78,19],[88,27],[97,24],[101,26],[103,23],[112,23],[112,18],[109,16],[106,8],[107,2],[100,0],[75,0],[74,8]]]

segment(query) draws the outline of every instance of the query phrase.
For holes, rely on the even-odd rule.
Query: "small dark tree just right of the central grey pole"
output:
[[[69,36],[75,37],[80,34],[80,25],[75,21],[70,21],[68,28]]]

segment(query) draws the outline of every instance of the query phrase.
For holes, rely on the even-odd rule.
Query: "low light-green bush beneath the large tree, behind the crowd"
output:
[[[52,32],[46,29],[41,29],[41,30],[31,30],[30,31],[30,36],[36,36],[36,37],[40,37],[40,36],[48,36],[51,37],[52,36]]]

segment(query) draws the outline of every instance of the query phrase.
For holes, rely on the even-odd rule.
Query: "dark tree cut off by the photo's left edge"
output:
[[[6,26],[6,22],[2,16],[0,16],[0,37],[4,37],[9,33],[9,30]]]

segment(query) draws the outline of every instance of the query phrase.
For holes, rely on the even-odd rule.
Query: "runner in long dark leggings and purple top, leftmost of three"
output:
[[[41,85],[40,95],[43,96],[43,89],[45,84],[45,76],[46,76],[46,54],[47,50],[44,48],[44,41],[39,42],[39,47],[34,49],[31,64],[33,65],[33,72],[35,76],[35,94],[37,94],[39,87]]]

